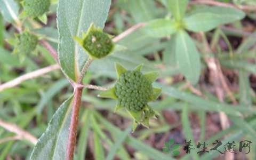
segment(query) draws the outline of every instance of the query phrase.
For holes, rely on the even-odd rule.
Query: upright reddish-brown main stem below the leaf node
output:
[[[83,87],[76,87],[74,89],[74,101],[73,101],[71,122],[69,127],[66,160],[72,160],[74,157],[74,151],[76,146],[77,124],[79,119],[79,109],[81,105],[82,92],[83,92]]]

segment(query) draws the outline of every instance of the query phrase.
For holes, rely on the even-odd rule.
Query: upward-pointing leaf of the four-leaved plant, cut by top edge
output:
[[[188,0],[169,0],[167,8],[176,20],[182,20],[187,9]]]

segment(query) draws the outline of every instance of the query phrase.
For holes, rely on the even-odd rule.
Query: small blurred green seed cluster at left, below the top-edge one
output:
[[[18,35],[18,43],[16,49],[19,53],[28,54],[36,49],[36,45],[38,43],[37,36],[28,33],[27,31]]]

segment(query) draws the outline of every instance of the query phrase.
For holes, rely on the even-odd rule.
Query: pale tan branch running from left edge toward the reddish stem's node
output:
[[[6,82],[6,83],[0,85],[0,92],[4,91],[6,89],[9,89],[11,87],[17,86],[20,83],[22,83],[24,81],[27,81],[28,79],[33,79],[33,78],[42,76],[46,73],[49,73],[50,71],[53,71],[53,70],[56,70],[56,69],[59,69],[59,68],[60,68],[59,65],[56,64],[56,65],[41,68],[41,69],[32,71],[30,73],[27,73],[25,75],[22,75],[18,78],[13,79],[12,81],[9,81],[9,82]]]

